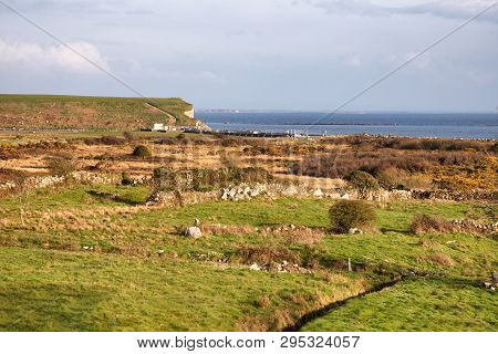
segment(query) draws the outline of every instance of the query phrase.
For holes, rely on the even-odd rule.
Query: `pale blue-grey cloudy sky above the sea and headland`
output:
[[[496,0],[0,0],[144,96],[333,111]],[[136,94],[0,2],[0,93]],[[496,112],[498,4],[346,111]]]

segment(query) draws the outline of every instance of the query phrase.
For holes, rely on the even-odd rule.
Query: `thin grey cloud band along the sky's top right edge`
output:
[[[433,14],[444,18],[468,19],[496,0],[439,0],[400,1],[393,0],[304,0],[331,14],[390,15],[390,14]],[[408,3],[407,3],[408,2]],[[479,20],[498,22],[498,4]]]

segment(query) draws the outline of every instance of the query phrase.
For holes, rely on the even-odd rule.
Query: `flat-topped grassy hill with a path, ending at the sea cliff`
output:
[[[181,98],[0,95],[0,128],[129,129],[152,123],[193,125]]]

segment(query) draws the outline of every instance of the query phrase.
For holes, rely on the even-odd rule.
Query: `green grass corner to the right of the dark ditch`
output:
[[[405,280],[307,324],[320,332],[494,332],[497,294],[458,279]]]

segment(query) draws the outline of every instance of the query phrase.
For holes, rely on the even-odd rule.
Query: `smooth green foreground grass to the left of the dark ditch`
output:
[[[361,278],[220,270],[141,260],[0,248],[0,331],[234,331],[280,329],[322,298],[362,289]],[[262,296],[270,302],[263,308]],[[304,303],[299,299],[304,299]]]

